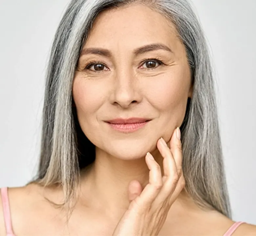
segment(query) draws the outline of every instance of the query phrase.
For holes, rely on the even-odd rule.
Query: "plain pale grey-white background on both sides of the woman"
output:
[[[68,2],[0,0],[0,187],[22,186],[36,172],[46,61]],[[256,1],[193,3],[216,69],[233,219],[256,224]]]

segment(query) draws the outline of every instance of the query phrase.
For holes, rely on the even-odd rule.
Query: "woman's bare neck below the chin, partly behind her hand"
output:
[[[163,173],[159,151],[155,150],[152,154]],[[120,219],[130,204],[128,185],[132,180],[138,180],[142,189],[149,183],[149,169],[145,157],[123,160],[96,148],[95,162],[81,175],[81,191],[82,195],[86,196],[86,199],[81,201],[86,201],[86,206],[106,214],[113,220]],[[176,205],[180,206],[181,202],[186,202],[186,196],[185,191],[182,191]]]

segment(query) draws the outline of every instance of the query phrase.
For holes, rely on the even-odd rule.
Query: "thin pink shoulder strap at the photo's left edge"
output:
[[[10,205],[8,199],[8,188],[1,188],[1,196],[4,210],[4,219],[5,219],[5,228],[8,235],[13,235],[11,227],[11,214],[10,214]]]

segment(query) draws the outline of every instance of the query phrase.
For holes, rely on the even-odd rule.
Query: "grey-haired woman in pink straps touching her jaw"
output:
[[[73,0],[38,175],[1,189],[0,235],[256,235],[231,220],[213,82],[187,1]]]

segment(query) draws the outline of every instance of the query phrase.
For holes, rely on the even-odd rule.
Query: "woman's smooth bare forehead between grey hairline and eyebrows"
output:
[[[164,15],[142,4],[105,10],[98,14],[88,35],[88,47],[139,47],[164,43],[177,47],[178,33]]]

